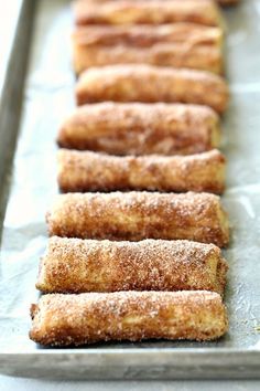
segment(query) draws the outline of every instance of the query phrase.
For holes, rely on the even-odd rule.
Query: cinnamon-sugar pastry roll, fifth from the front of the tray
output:
[[[57,142],[113,155],[187,155],[213,149],[219,139],[219,118],[206,106],[105,102],[77,107]]]

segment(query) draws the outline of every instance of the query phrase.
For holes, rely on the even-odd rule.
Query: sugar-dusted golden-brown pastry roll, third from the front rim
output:
[[[67,193],[46,215],[50,235],[139,241],[187,239],[228,244],[228,219],[209,193]]]

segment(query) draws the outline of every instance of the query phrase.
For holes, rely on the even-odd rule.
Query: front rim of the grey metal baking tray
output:
[[[31,378],[36,371],[36,377],[64,379],[69,361],[76,363],[77,373],[71,373],[67,379],[260,379],[260,350],[241,348],[89,348],[87,351],[6,352],[0,353],[0,372]]]

